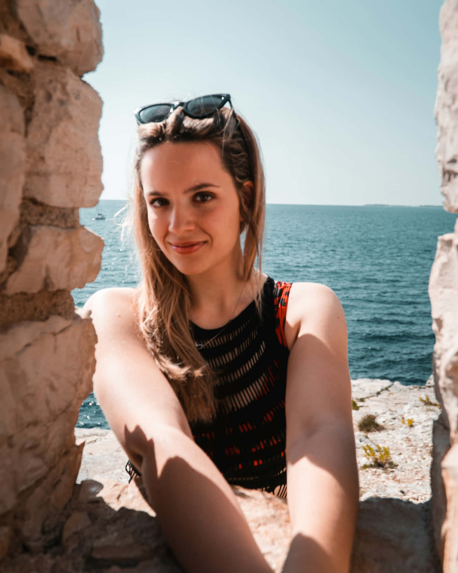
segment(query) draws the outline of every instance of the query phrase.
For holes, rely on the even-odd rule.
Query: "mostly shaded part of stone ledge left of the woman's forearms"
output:
[[[183,573],[154,512],[133,485],[113,480],[76,484],[58,520],[59,543],[44,554],[21,554],[3,562],[2,571]]]

